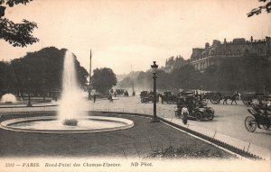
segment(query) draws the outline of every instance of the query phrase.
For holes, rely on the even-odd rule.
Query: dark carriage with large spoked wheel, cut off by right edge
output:
[[[252,105],[248,112],[253,115],[245,119],[245,126],[249,132],[257,128],[268,130],[271,126],[271,107],[266,105]]]

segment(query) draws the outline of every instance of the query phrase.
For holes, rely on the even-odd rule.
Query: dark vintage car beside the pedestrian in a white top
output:
[[[175,116],[182,118],[182,107],[186,105],[189,111],[189,118],[201,122],[203,119],[212,120],[214,118],[214,110],[206,104],[197,102],[193,95],[186,95],[178,98]]]

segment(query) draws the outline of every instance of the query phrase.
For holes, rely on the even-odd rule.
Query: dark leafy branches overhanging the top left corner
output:
[[[0,0],[0,39],[8,41],[14,47],[26,47],[28,44],[39,41],[32,35],[33,29],[38,28],[36,23],[25,19],[22,23],[14,23],[4,17],[6,7],[19,4],[26,5],[30,1],[32,0]]]

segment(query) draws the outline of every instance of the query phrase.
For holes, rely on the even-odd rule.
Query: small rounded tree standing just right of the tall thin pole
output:
[[[92,86],[101,94],[106,95],[108,90],[117,85],[117,77],[111,68],[96,68],[91,77]]]

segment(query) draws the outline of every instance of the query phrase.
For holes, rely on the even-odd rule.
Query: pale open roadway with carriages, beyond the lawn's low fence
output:
[[[249,150],[250,152],[265,158],[270,158],[271,132],[258,129],[254,132],[247,131],[245,119],[251,115],[248,113],[248,106],[241,101],[236,104],[211,104],[208,106],[215,110],[215,117],[212,121],[197,122],[189,120],[187,127],[199,131],[218,140],[223,140],[239,149]],[[117,97],[113,103],[107,100],[98,100],[91,104],[90,110],[115,111],[128,113],[146,113],[153,115],[153,104],[143,104],[139,96]],[[182,124],[181,119],[174,115],[176,104],[157,104],[157,115],[166,118],[168,121]],[[251,115],[252,116],[252,115]],[[184,125],[183,125],[184,126]]]

